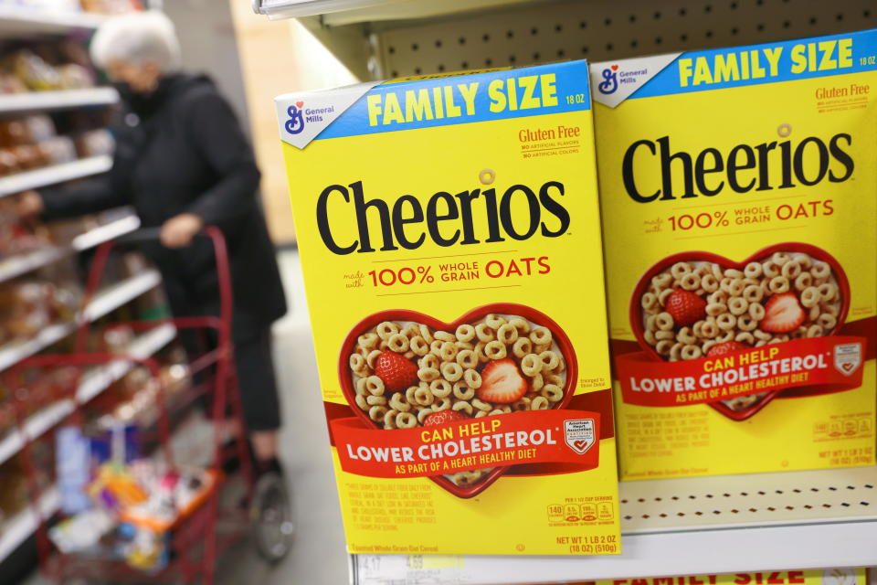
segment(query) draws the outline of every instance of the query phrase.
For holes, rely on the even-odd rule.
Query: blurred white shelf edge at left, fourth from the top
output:
[[[115,284],[102,291],[85,308],[84,315],[89,321],[100,319],[105,314],[118,309],[149,291],[162,281],[158,271],[145,271],[126,281]],[[13,342],[0,347],[0,371],[5,370],[25,357],[33,356],[57,343],[76,329],[76,324],[61,323],[49,325],[36,337],[25,342]]]

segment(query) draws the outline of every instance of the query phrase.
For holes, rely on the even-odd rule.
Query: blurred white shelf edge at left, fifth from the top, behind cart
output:
[[[149,333],[140,335],[132,343],[129,354],[133,357],[149,357],[162,347],[169,344],[176,335],[176,329],[171,324],[156,327]],[[79,402],[85,403],[95,398],[105,389],[109,388],[132,369],[132,363],[119,361],[108,364],[105,367],[90,372],[82,378],[77,389]],[[32,415],[25,422],[25,434],[35,438],[54,427],[73,411],[71,400],[62,400]],[[21,451],[24,439],[20,432],[13,431],[5,439],[0,440],[0,465]],[[2,558],[2,555],[0,555]]]

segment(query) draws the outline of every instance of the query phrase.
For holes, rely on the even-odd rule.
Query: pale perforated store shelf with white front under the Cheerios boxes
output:
[[[623,482],[619,488],[620,556],[463,556],[423,563],[355,555],[354,583],[559,583],[877,566],[877,467]]]

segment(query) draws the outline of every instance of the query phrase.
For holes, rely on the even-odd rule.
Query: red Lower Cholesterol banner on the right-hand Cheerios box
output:
[[[665,362],[639,352],[618,356],[616,375],[628,404],[689,406],[784,388],[829,394],[861,386],[866,339],[796,339],[724,356]]]

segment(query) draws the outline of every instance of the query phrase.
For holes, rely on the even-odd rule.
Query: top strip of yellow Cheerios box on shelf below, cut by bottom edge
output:
[[[594,585],[867,585],[867,569],[775,570],[594,581]],[[581,585],[584,585],[581,584]]]

